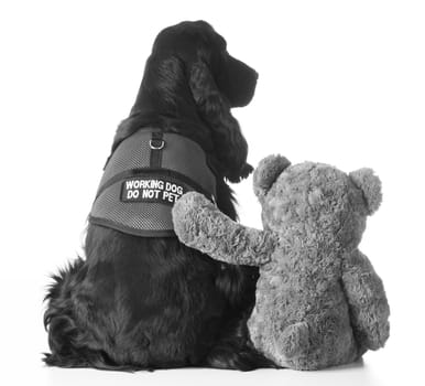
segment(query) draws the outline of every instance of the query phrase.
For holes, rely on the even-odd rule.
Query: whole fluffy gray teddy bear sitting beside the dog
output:
[[[211,258],[260,267],[248,321],[254,346],[283,367],[350,363],[389,337],[381,279],[358,249],[381,203],[370,169],[348,175],[313,162],[270,156],[253,176],[264,230],[238,224],[199,193],[173,208],[178,238]]]

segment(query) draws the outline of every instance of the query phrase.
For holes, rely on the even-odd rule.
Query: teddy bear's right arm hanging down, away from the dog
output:
[[[358,343],[370,350],[383,347],[390,333],[390,307],[382,280],[358,249],[344,259],[342,283]]]

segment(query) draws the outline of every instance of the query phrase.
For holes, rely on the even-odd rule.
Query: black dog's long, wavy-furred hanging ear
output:
[[[208,65],[198,58],[189,71],[189,87],[211,137],[220,162],[219,171],[230,181],[239,182],[252,172],[247,163],[248,143],[238,121],[230,112],[230,101],[217,87]]]

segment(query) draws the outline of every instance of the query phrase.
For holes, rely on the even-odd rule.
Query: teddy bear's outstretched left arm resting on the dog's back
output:
[[[182,243],[229,264],[265,264],[279,239],[272,232],[233,222],[196,192],[186,193],[175,203],[173,222]]]

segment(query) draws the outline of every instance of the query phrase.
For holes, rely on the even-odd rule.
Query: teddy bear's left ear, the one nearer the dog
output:
[[[262,159],[253,175],[254,193],[261,201],[276,181],[277,176],[291,164],[283,156],[269,156]]]

